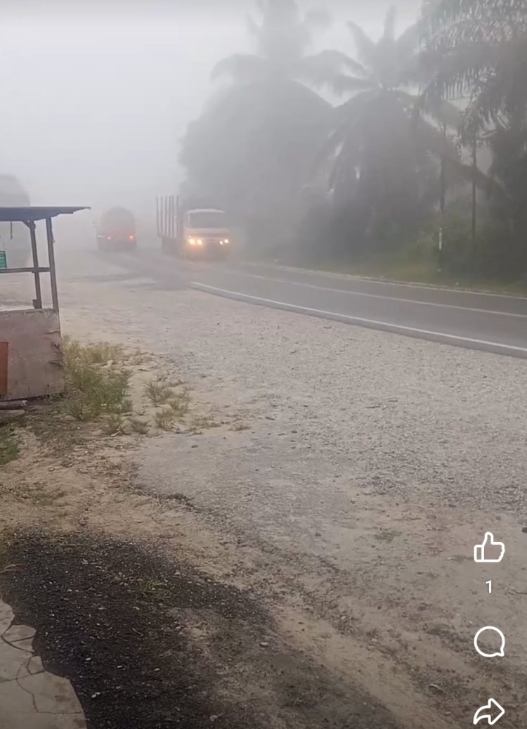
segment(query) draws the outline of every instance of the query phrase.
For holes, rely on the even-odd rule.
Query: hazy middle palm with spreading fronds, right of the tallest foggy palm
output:
[[[437,157],[445,166],[458,165],[455,145],[432,123],[430,112],[441,118],[445,130],[458,124],[459,115],[443,102],[417,113],[415,90],[421,80],[417,25],[396,36],[391,9],[377,42],[353,21],[348,28],[356,58],[327,50],[305,64],[314,83],[351,97],[335,109],[321,159],[328,155],[332,159],[329,187],[337,199],[359,201],[367,228],[392,224],[404,228],[415,220],[416,212],[429,210],[437,201]]]

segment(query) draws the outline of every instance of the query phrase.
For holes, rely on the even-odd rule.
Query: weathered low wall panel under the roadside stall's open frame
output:
[[[0,401],[63,391],[58,313],[51,309],[0,311],[0,342],[7,342],[7,391],[0,391]],[[0,370],[4,368],[5,362],[0,362]]]

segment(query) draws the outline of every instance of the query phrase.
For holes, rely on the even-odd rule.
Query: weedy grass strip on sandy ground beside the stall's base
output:
[[[191,408],[186,384],[163,374],[151,360],[148,354],[106,342],[63,338],[65,391],[32,403],[26,416],[0,422],[0,467],[25,453],[26,428],[67,451],[66,443],[74,447],[94,435],[200,435],[230,424]]]

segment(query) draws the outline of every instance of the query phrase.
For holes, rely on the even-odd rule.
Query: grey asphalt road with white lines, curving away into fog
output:
[[[157,249],[112,254],[130,273],[255,305],[527,358],[527,298],[390,284],[243,262],[182,262]]]

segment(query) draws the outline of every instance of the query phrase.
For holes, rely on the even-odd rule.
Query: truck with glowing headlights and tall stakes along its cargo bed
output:
[[[180,258],[225,258],[232,238],[224,211],[181,203],[179,196],[157,198],[161,249]]]

